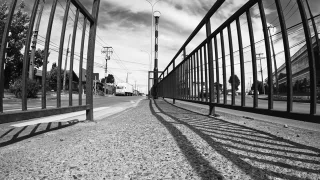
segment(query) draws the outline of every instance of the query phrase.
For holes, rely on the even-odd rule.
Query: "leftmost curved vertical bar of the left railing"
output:
[[[5,63],[5,53],[6,53],[6,43],[8,41],[8,34],[10,31],[11,20],[13,17],[14,9],[16,6],[17,0],[11,1],[11,6],[9,12],[7,13],[3,34],[2,34],[2,41],[0,46],[0,113],[3,112],[3,91],[4,91],[4,63]]]

